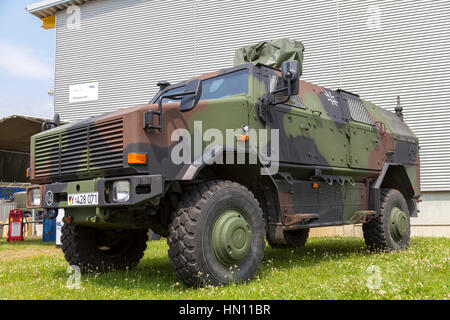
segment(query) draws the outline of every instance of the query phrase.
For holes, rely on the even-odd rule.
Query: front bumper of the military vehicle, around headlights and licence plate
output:
[[[128,180],[130,182],[130,198],[126,202],[114,202],[110,196],[113,182]],[[40,206],[33,206],[30,193],[33,189],[41,191]],[[128,207],[159,197],[164,191],[164,179],[161,175],[128,176],[116,178],[97,178],[92,180],[57,182],[27,189],[27,205],[29,208],[72,208],[68,203],[69,194],[98,193],[98,204],[76,206],[80,207]]]

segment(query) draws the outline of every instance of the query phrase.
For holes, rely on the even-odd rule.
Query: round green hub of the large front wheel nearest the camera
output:
[[[250,249],[250,226],[242,214],[229,210],[217,219],[211,239],[217,260],[224,266],[233,266],[243,260]]]

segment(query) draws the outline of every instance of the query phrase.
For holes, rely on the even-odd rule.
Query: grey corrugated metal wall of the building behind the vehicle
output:
[[[146,103],[159,80],[231,66],[234,50],[292,37],[305,80],[392,110],[422,144],[422,188],[450,190],[450,1],[96,0],[81,30],[57,15],[55,109],[63,120]],[[69,85],[99,82],[99,100],[69,104]]]

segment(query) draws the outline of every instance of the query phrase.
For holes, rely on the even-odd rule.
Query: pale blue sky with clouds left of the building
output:
[[[53,117],[55,31],[26,11],[37,0],[0,0],[0,118]]]

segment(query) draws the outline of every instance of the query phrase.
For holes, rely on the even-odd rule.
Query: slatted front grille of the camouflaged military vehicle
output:
[[[123,167],[123,123],[116,119],[36,138],[35,177]]]

